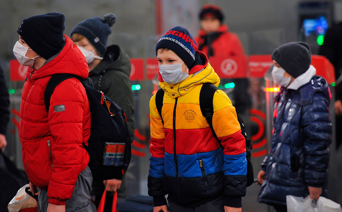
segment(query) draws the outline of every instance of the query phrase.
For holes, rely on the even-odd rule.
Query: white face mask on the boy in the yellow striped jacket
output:
[[[166,82],[169,85],[174,85],[188,78],[190,76],[188,74],[189,70],[186,68],[187,73],[182,72],[183,63],[159,65],[159,73],[163,78],[164,82]]]

